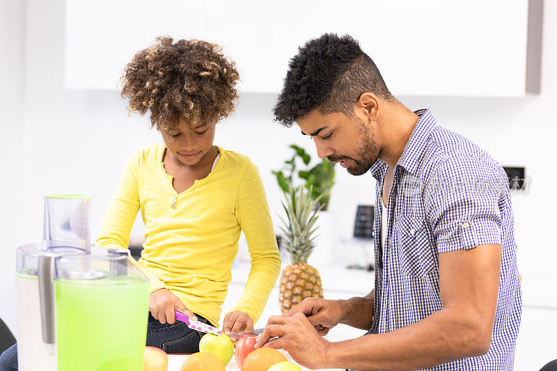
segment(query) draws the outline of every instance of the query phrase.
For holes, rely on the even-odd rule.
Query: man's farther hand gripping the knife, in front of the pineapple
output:
[[[308,317],[320,336],[325,336],[343,317],[340,301],[306,298],[294,308],[288,310],[287,316],[301,313]]]

